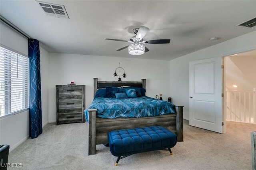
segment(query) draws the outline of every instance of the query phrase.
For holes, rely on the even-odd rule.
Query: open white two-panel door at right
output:
[[[222,58],[189,63],[189,125],[222,133]]]

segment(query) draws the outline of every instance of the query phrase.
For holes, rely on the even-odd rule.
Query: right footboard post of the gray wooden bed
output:
[[[176,134],[178,142],[183,142],[183,106],[175,106],[176,110]]]

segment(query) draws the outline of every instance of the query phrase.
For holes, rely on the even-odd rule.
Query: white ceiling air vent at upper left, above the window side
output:
[[[40,1],[36,1],[36,2],[40,6],[40,8],[43,10],[44,14],[46,14],[47,16],[54,16],[57,18],[69,19],[64,5],[50,4],[47,2],[40,2]]]

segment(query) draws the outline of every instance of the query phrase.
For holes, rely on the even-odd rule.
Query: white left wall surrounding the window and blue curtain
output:
[[[28,40],[0,22],[0,43],[28,55]],[[42,124],[48,123],[49,54],[40,47],[42,81]],[[0,144],[9,144],[10,151],[29,136],[29,111],[0,118]]]

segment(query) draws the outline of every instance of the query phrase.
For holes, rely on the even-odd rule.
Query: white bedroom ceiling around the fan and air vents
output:
[[[42,1],[64,5],[70,20],[46,16],[34,0],[0,0],[0,14],[56,53],[170,60],[256,30],[236,26],[256,17],[255,0]],[[150,29],[144,40],[170,44],[146,44],[150,51],[134,56],[116,51],[129,43],[104,40],[129,40],[140,25]]]

